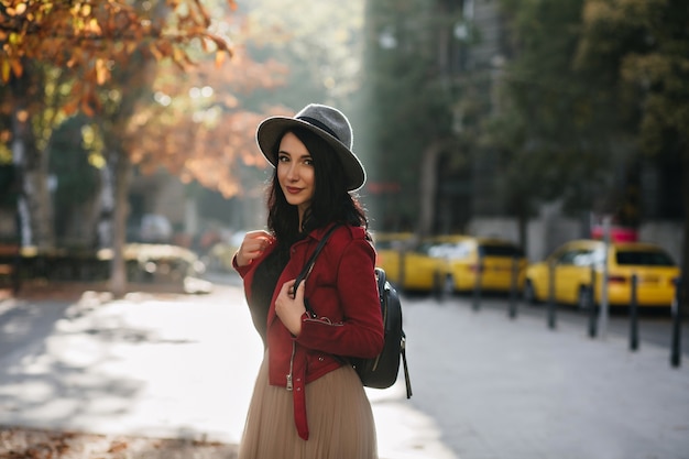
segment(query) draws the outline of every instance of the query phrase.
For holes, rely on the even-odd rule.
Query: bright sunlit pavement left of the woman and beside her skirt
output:
[[[237,287],[10,299],[0,303],[0,425],[240,439],[262,345]],[[371,398],[381,458],[455,458],[401,387]]]

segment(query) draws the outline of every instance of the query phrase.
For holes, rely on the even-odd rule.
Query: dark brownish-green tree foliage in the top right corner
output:
[[[615,81],[637,147],[682,168],[681,304],[689,306],[689,6],[682,0],[586,0],[577,65]]]

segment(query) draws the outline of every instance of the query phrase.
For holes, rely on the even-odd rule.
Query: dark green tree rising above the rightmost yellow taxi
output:
[[[605,203],[613,165],[631,143],[609,81],[591,80],[575,65],[582,3],[501,1],[510,58],[484,144],[501,157],[502,195],[517,217],[523,244],[540,201],[559,199],[575,215]],[[610,211],[606,206],[601,210]]]

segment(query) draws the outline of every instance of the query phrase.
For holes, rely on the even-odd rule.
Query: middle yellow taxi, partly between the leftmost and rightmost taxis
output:
[[[486,292],[510,292],[513,283],[521,291],[527,265],[522,249],[507,240],[463,237],[444,243],[445,285],[466,293],[480,287]]]

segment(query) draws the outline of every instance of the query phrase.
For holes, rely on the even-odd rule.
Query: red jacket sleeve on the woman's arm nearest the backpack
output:
[[[362,238],[351,239],[337,266],[337,298],[342,321],[303,316],[296,341],[342,357],[372,358],[383,349],[383,320],[374,274],[375,250]]]

